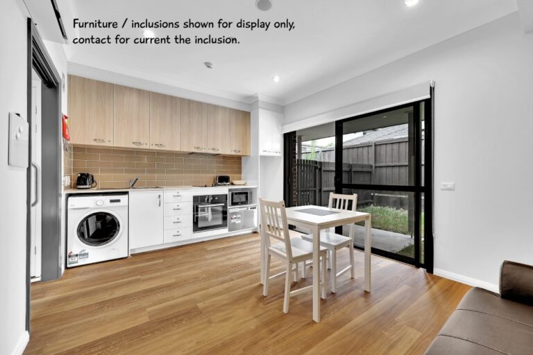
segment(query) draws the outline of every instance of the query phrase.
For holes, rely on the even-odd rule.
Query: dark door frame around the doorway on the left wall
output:
[[[27,115],[33,127],[31,101],[32,69],[42,80],[42,281],[60,277],[60,239],[61,239],[61,90],[62,80],[37,28],[28,18],[27,46]],[[33,130],[30,130],[29,151],[32,151]],[[26,330],[30,331],[30,259],[31,259],[31,154],[28,155],[26,173]]]

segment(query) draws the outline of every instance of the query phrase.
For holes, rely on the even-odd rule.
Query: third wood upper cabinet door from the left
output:
[[[150,148],[180,150],[181,99],[150,93]]]

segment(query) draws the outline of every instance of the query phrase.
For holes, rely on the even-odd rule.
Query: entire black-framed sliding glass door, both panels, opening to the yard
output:
[[[357,211],[372,214],[373,253],[432,272],[431,116],[428,99],[287,133],[286,204],[326,206],[330,192],[355,193]],[[363,245],[360,225],[355,247]]]

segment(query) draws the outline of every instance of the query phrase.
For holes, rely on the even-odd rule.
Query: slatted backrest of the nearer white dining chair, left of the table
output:
[[[287,213],[285,211],[285,202],[264,200],[259,198],[261,209],[261,234],[267,248],[270,247],[270,239],[277,239],[285,243],[287,258],[292,260],[291,238],[289,234],[289,225],[287,224]]]

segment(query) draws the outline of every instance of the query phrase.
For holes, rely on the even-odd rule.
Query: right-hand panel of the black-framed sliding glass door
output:
[[[337,121],[335,191],[357,194],[357,210],[372,214],[372,249],[424,266],[425,115],[420,101]],[[348,229],[337,232],[348,234]],[[355,246],[364,246],[357,226]]]

